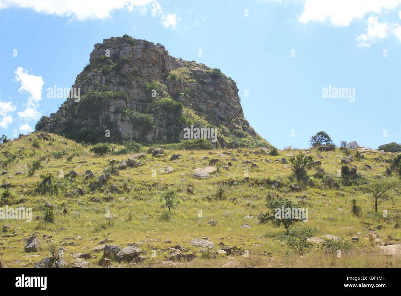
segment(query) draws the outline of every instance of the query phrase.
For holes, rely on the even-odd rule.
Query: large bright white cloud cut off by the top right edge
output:
[[[298,21],[307,23],[311,20],[325,22],[334,26],[348,26],[354,19],[362,19],[367,13],[380,14],[382,9],[392,9],[400,0],[306,0],[304,11]]]

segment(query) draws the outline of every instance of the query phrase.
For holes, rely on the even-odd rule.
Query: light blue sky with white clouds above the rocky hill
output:
[[[0,134],[31,131],[65,101],[48,87],[71,87],[94,43],[130,34],[233,78],[245,118],[277,148],[306,148],[320,130],[336,144],[401,142],[400,10],[398,0],[0,0]],[[354,98],[323,98],[329,85]]]

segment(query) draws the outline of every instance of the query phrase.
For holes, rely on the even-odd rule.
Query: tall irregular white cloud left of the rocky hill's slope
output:
[[[14,81],[20,82],[21,87],[18,89],[20,93],[29,93],[26,109],[23,112],[18,112],[18,116],[26,121],[38,120],[41,114],[36,108],[39,106],[38,102],[42,99],[42,77],[28,74],[28,71],[24,71],[24,68],[18,67],[15,71]]]

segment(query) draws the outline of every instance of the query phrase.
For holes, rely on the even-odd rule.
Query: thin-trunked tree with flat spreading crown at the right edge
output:
[[[391,201],[393,197],[389,195],[391,191],[394,193],[400,194],[399,189],[401,188],[400,181],[387,181],[387,180],[379,180],[376,182],[371,182],[369,184],[363,185],[360,187],[362,192],[365,194],[369,194],[370,198],[375,201],[375,205],[373,205],[373,209],[377,213],[377,206],[383,203],[383,201]]]

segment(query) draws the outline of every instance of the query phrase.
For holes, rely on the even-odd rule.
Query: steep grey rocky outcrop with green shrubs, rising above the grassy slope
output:
[[[70,97],[36,130],[89,142],[167,143],[183,140],[191,125],[217,128],[219,146],[269,146],[245,120],[231,78],[124,35],[95,44]]]

